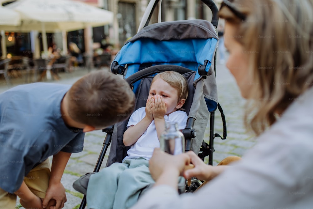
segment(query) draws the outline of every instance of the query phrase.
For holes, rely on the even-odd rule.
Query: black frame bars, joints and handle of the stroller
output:
[[[151,13],[148,16],[144,27],[149,24],[149,21],[150,21],[151,16],[152,16],[152,11],[154,10],[154,8],[156,8],[158,2],[159,2],[159,0],[155,0],[155,2],[153,3]],[[215,29],[216,29],[217,25],[218,25],[218,8],[217,8],[216,4],[213,2],[213,0],[202,0],[202,2],[204,4],[206,4],[211,9],[212,14],[213,14],[211,23],[213,24],[213,26],[215,26]],[[130,86],[132,86],[134,82],[140,80],[141,78],[144,78],[144,77],[149,76],[149,75],[153,75],[155,73],[160,73],[162,71],[168,71],[166,69],[173,69],[173,66],[177,67],[177,65],[158,65],[158,66],[163,66],[163,68],[165,70],[161,69],[161,70],[152,70],[151,71],[150,70],[151,67],[148,67],[146,69],[138,71],[138,72],[134,73],[133,75],[129,76],[126,79],[126,81],[129,83]],[[152,66],[152,67],[154,67],[154,66]],[[205,67],[206,67],[206,63],[204,63],[204,66],[203,65],[199,66],[199,68],[198,68],[199,74],[201,71],[203,71],[205,69]],[[214,56],[213,69],[214,69],[214,74],[216,75],[216,51],[215,51],[215,56]],[[123,75],[125,69],[123,69],[123,67],[121,65],[115,65],[115,63],[113,62],[111,65],[111,71],[115,74]],[[192,70],[189,70],[189,69],[184,68],[184,67],[180,67],[180,70],[176,70],[176,71],[179,72],[180,74],[183,74],[186,72],[190,72]],[[213,72],[211,72],[211,74],[212,73]],[[204,140],[203,140],[200,151],[198,153],[198,156],[202,160],[204,160],[204,158],[208,156],[208,158],[209,158],[208,164],[209,165],[213,165],[213,152],[215,151],[214,150],[214,138],[220,137],[222,139],[226,139],[226,136],[227,136],[225,115],[224,115],[223,109],[219,103],[218,103],[217,108],[221,113],[221,118],[222,118],[222,122],[223,122],[223,137],[218,133],[214,133],[215,111],[213,111],[210,113],[209,144],[204,142]],[[194,118],[188,118],[187,123],[186,123],[186,128],[183,129],[183,131],[182,131],[182,133],[184,134],[185,140],[186,140],[185,141],[186,142],[185,143],[185,151],[186,152],[191,150],[192,138],[195,138],[195,136],[196,136],[196,131],[195,131],[195,129],[193,129],[194,123],[195,123]],[[105,153],[106,153],[107,149],[109,148],[110,143],[112,141],[113,130],[114,130],[114,125],[107,127],[105,129],[102,129],[102,132],[105,132],[106,136],[105,136],[105,139],[103,142],[103,147],[101,149],[100,155],[98,157],[98,160],[97,160],[97,163],[95,165],[93,172],[99,172],[99,170],[100,170],[103,159],[105,157]],[[192,184],[195,185],[195,188],[187,187],[186,188],[187,192],[192,192],[196,188],[198,188],[198,186],[200,186],[200,183],[198,182],[197,179],[193,179]],[[83,208],[85,208],[85,206],[86,206],[86,195],[84,195],[79,208],[83,209]]]

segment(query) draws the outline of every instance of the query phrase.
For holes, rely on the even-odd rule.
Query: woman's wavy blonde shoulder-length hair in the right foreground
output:
[[[244,116],[257,135],[275,123],[285,109],[313,84],[312,0],[234,0],[220,11],[236,26],[235,38],[249,53],[253,85]]]

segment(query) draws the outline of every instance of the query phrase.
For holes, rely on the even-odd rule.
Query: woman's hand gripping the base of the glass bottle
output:
[[[186,153],[171,155],[155,148],[149,160],[149,170],[152,178],[156,181],[165,171],[171,171],[170,175],[182,175],[185,165],[190,164],[190,158]]]

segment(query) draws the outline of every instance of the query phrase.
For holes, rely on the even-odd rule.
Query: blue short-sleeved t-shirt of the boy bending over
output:
[[[38,163],[83,150],[85,133],[65,125],[61,101],[70,85],[33,83],[0,94],[0,187],[15,192]]]

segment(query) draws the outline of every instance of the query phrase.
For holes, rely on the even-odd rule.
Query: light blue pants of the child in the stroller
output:
[[[87,207],[93,209],[126,209],[133,206],[141,190],[155,183],[144,158],[113,163],[90,176]]]

